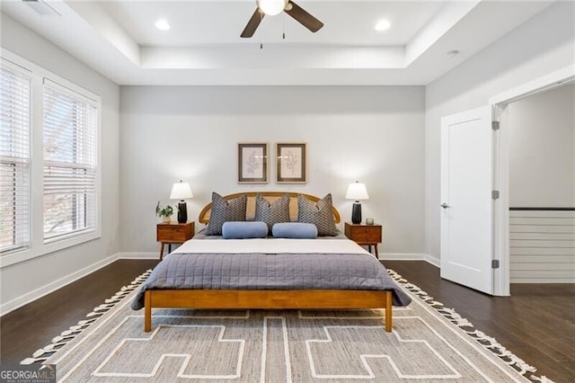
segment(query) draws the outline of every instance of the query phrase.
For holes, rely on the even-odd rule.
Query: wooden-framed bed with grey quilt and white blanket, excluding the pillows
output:
[[[326,202],[328,196],[329,203]],[[222,197],[214,193],[212,202],[199,214],[199,223],[207,226],[164,257],[132,301],[133,309],[143,307],[145,310],[144,331],[152,329],[153,308],[385,308],[385,331],[391,332],[392,307],[407,306],[411,299],[395,285],[373,255],[342,236],[341,232],[316,238],[265,236],[230,239],[222,233],[214,235],[209,231],[216,227],[218,219],[229,219],[233,223],[243,219],[259,222],[258,219],[263,217],[270,225],[270,214],[262,216],[260,206],[266,203],[273,208],[279,205],[279,201],[283,205],[281,209],[276,206],[275,210],[264,212],[278,213],[281,210],[281,220],[302,221],[306,218],[305,211],[314,215],[316,209],[323,221],[327,220],[328,225],[335,227],[341,218],[337,209],[332,207],[331,195],[328,196],[320,199],[301,193],[252,191]],[[262,199],[265,202],[261,202]],[[237,219],[233,214],[230,216],[231,210],[226,210],[222,218],[221,207],[237,204],[237,200],[242,200],[237,209],[243,209],[243,219]],[[283,211],[285,209],[288,213]],[[278,219],[278,214],[275,215]],[[273,219],[271,217],[272,223]],[[224,235],[226,225],[232,224],[224,223]],[[309,227],[309,223],[307,225]],[[279,226],[270,225],[270,228]],[[322,223],[316,227],[324,226]]]

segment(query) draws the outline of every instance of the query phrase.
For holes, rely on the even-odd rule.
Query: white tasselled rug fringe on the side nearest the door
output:
[[[493,354],[498,356],[501,361],[504,361],[505,363],[509,364],[509,366],[511,366],[513,370],[516,370],[519,374],[533,381],[543,383],[553,383],[553,380],[548,379],[545,376],[538,377],[535,374],[533,374],[537,370],[535,369],[535,367],[526,363],[526,361],[523,361],[513,352],[509,352],[509,350],[507,350],[503,345],[501,345],[495,338],[492,338],[491,336],[482,333],[482,331],[475,329],[474,325],[463,316],[457,314],[455,309],[445,307],[441,302],[435,300],[427,292],[420,289],[418,286],[405,280],[400,274],[398,274],[394,270],[387,269],[387,272],[395,281],[401,283],[405,289],[408,289],[413,294],[417,295],[421,300],[429,304],[430,307],[434,307],[439,314],[445,316],[451,323],[461,328],[465,334],[470,335],[475,341],[477,341],[477,343],[480,343],[483,347],[493,352]],[[469,330],[467,330],[466,328],[469,328]],[[530,372],[531,374],[527,376],[526,375],[527,372]]]

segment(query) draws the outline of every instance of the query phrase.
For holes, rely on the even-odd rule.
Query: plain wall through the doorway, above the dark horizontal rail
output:
[[[575,86],[508,106],[509,206],[575,207]]]

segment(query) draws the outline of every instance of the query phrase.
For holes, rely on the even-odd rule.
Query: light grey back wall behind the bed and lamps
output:
[[[380,252],[422,254],[424,112],[420,86],[122,86],[121,249],[157,254],[155,204],[176,202],[180,179],[194,220],[212,191],[257,190],[332,192],[349,220],[343,196],[359,180],[370,196],[363,217],[384,225]],[[272,161],[267,185],[237,184],[238,142],[267,142],[272,156],[277,142],[306,142],[308,183],[276,184]]]

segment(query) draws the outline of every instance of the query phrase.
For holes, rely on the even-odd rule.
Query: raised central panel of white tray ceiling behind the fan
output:
[[[417,12],[399,2],[318,2],[300,0],[305,10],[325,24],[315,34],[282,13],[263,18],[252,39],[241,39],[240,32],[256,8],[255,0],[211,2],[136,2],[107,1],[101,5],[121,24],[128,35],[143,46],[189,47],[199,44],[258,44],[282,42],[330,45],[405,45],[445,2],[420,2]],[[385,33],[374,31],[379,17],[409,20],[397,23]],[[172,31],[161,32],[154,22],[169,20]]]

